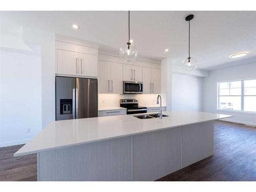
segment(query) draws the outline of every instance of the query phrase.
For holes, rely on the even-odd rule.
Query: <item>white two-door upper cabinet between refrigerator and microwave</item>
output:
[[[99,60],[98,75],[99,93],[122,93],[122,63]]]

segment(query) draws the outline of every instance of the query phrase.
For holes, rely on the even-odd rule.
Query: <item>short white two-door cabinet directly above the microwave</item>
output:
[[[124,64],[123,80],[142,82],[142,67]]]

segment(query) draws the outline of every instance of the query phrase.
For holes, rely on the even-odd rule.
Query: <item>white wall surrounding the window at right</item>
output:
[[[256,125],[256,115],[217,111],[217,82],[247,78],[256,78],[256,63],[211,71],[209,77],[204,78],[203,81],[203,110],[234,116],[226,119],[227,121]]]

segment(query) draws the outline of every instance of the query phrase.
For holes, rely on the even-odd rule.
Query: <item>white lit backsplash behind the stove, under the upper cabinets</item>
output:
[[[158,94],[98,94],[99,108],[116,107],[120,105],[120,99],[132,99],[138,100],[139,105],[154,107],[157,106]],[[162,106],[166,106],[166,93],[161,93]]]

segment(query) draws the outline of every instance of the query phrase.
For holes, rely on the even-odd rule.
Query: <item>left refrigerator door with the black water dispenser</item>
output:
[[[56,77],[56,120],[75,119],[75,78]]]

